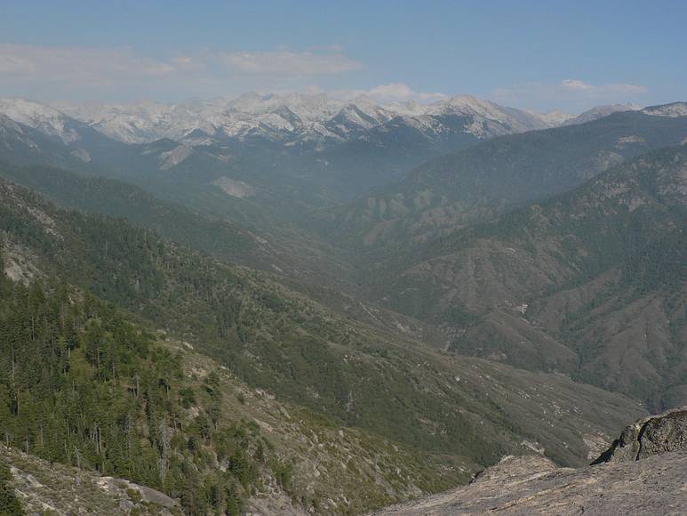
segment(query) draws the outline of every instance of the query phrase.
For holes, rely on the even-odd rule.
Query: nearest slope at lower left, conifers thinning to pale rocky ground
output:
[[[276,401],[92,294],[0,278],[0,299],[0,432],[30,456],[159,489],[189,514],[360,512],[460,476]]]

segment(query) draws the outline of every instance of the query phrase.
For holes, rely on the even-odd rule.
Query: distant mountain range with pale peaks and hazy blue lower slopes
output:
[[[140,183],[162,174],[165,181],[184,182],[185,191],[254,198],[283,216],[279,206],[285,203],[288,211],[292,205],[284,189],[299,192],[296,205],[305,214],[324,198],[354,198],[480,141],[624,109],[634,107],[601,107],[579,117],[539,114],[470,95],[419,104],[247,93],[233,101],[56,107],[4,98],[0,148],[4,160],[21,165],[91,169]]]

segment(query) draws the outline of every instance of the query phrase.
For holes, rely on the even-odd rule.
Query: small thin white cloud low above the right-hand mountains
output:
[[[502,104],[517,107],[551,107],[564,104],[572,108],[587,109],[595,104],[627,102],[641,99],[649,93],[643,85],[609,83],[592,85],[580,79],[564,79],[560,83],[525,83],[507,88],[498,88],[491,97]]]

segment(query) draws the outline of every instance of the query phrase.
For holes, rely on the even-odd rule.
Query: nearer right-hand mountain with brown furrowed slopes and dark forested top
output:
[[[683,404],[687,147],[439,238],[378,273],[388,305],[459,353]]]

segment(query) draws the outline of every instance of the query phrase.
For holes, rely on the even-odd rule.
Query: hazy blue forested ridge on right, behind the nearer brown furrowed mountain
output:
[[[669,106],[661,108],[502,136],[437,157],[397,185],[317,214],[312,225],[332,241],[371,249],[371,259],[424,245],[442,231],[579,186],[627,158],[680,144],[687,116],[664,116]]]

